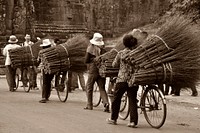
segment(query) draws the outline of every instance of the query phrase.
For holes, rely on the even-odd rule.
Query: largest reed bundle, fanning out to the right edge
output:
[[[200,74],[197,29],[183,17],[166,22],[125,57],[126,62],[137,68],[130,83],[197,82]]]

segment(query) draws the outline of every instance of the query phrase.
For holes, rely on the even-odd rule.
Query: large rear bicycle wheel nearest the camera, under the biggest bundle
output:
[[[153,128],[163,126],[167,115],[167,106],[164,95],[156,86],[145,90],[141,108],[145,119]]]

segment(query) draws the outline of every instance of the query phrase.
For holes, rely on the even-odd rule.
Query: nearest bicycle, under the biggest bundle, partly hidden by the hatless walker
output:
[[[127,97],[127,95],[125,97]],[[153,128],[162,127],[167,116],[166,100],[162,91],[156,85],[146,85],[142,87],[141,94],[138,93],[138,98],[138,108],[141,109],[141,113],[143,112],[149,125]],[[128,97],[126,102],[128,103]],[[123,120],[128,116],[129,108],[123,115],[122,112],[119,114],[119,117]]]

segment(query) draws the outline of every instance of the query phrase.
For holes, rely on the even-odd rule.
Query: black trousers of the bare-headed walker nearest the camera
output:
[[[138,86],[128,87],[128,83],[120,82],[116,84],[114,98],[112,102],[111,119],[117,120],[120,110],[121,98],[127,91],[130,109],[130,122],[138,124],[138,110],[137,110],[137,91]]]

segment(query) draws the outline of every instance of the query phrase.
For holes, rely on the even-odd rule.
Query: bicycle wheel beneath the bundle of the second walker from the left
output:
[[[57,81],[58,83],[56,83],[55,88],[56,88],[59,100],[61,102],[66,102],[68,98],[69,88],[67,87],[67,80],[65,80],[64,83],[61,83],[61,78],[62,78],[62,75],[60,75],[59,80]]]

